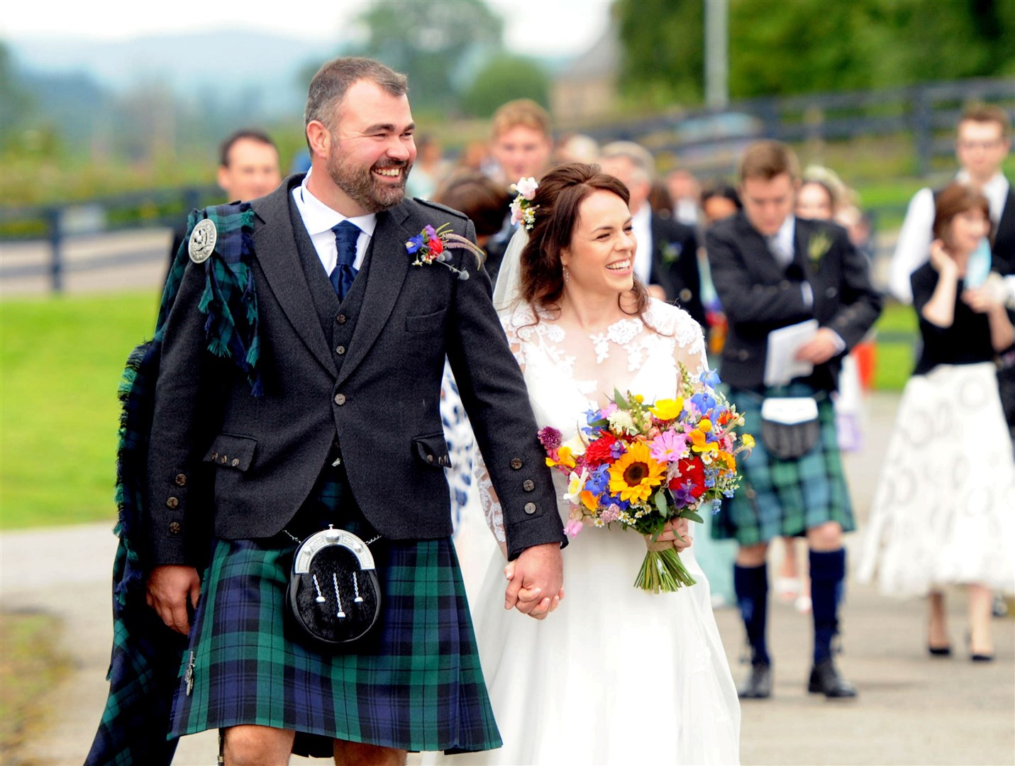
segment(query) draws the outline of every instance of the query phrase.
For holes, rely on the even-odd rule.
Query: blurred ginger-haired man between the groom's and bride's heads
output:
[[[506,189],[519,179],[543,178],[553,151],[549,113],[530,98],[501,105],[490,123],[490,153],[499,165],[497,181]],[[509,203],[510,204],[510,203]],[[503,225],[486,243],[486,270],[495,281],[507,242],[515,233],[504,208]]]

